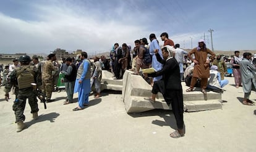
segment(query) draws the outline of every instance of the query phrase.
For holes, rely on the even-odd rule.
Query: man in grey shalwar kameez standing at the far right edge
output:
[[[243,54],[243,59],[240,62],[241,68],[241,78],[242,78],[242,89],[244,90],[244,100],[242,104],[244,105],[254,105],[254,102],[249,99],[251,90],[256,90],[256,82],[255,82],[255,73],[256,68],[250,62],[250,58],[252,58],[252,54],[249,52],[245,52]]]

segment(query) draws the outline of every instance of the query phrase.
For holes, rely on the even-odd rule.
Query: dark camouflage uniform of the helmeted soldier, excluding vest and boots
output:
[[[28,66],[28,65],[22,65],[20,66],[21,68],[23,66]],[[34,79],[35,83],[37,86],[41,85],[41,73],[38,71],[38,69],[34,66],[33,71],[35,72]],[[33,89],[33,87],[27,87],[24,89],[19,89],[18,87],[18,82],[17,82],[17,68],[12,71],[11,74],[9,74],[7,78],[7,84],[4,88],[4,92],[8,94],[11,91],[12,86],[15,86],[15,95],[16,99],[18,101],[14,101],[14,105],[12,106],[12,110],[14,110],[15,113],[15,122],[20,122],[25,120],[25,115],[23,114],[25,105],[26,105],[26,100],[28,98],[28,103],[30,105],[31,111],[30,113],[36,113],[38,112],[38,104],[37,104],[37,99],[36,99],[36,92]]]

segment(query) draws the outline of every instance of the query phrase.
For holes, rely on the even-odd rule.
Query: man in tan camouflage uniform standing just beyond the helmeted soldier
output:
[[[45,65],[43,66],[43,73],[42,73],[42,79],[43,79],[43,87],[42,91],[46,95],[46,102],[54,102],[54,100],[51,100],[51,94],[53,92],[54,84],[53,84],[53,71],[56,70],[56,68],[53,66],[53,61],[56,60],[55,54],[49,54],[48,55],[49,60],[45,62]]]

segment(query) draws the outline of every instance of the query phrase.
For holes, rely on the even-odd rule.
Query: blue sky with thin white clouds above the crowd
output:
[[[256,1],[1,0],[0,53],[107,52],[114,43],[160,34],[181,48],[256,50]]]

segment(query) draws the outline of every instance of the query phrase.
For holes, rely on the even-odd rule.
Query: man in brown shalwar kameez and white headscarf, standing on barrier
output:
[[[191,57],[192,54],[195,55],[195,59]],[[215,54],[210,49],[207,49],[203,39],[200,39],[198,41],[198,47],[190,50],[189,54],[187,54],[190,60],[195,63],[190,88],[186,90],[187,92],[193,91],[197,79],[201,78],[202,92],[204,94],[207,93],[205,89],[207,88],[207,81],[210,77],[210,60],[207,60],[208,54],[211,54],[210,60],[213,60],[215,58]]]

